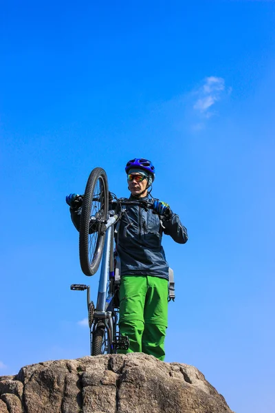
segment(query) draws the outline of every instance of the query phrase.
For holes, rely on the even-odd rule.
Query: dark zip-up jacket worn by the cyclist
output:
[[[131,199],[135,199],[130,197]],[[142,200],[150,199],[148,197]],[[154,202],[151,199],[152,203]],[[168,279],[168,263],[162,247],[162,234],[170,235],[178,244],[188,240],[187,231],[179,216],[159,217],[152,209],[138,205],[123,207],[121,220],[115,227],[116,251],[120,257],[121,275],[155,275]],[[79,229],[80,213],[70,209],[72,222]]]

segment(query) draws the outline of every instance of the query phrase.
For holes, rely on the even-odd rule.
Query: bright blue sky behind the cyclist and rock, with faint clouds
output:
[[[148,4],[149,3],[149,4]],[[10,1],[0,17],[0,374],[89,354],[65,195],[91,169],[153,195],[189,233],[166,361],[196,366],[238,413],[274,392],[274,1]]]

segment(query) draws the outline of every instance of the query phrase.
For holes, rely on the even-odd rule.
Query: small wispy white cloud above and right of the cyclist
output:
[[[203,86],[195,92],[198,98],[193,105],[193,108],[206,116],[206,118],[209,118],[211,113],[208,109],[221,99],[224,90],[225,81],[223,78],[217,76],[207,77]]]

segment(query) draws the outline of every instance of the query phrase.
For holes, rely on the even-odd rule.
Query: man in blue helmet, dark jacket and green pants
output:
[[[129,160],[125,171],[129,199],[151,201],[153,209],[127,205],[116,227],[115,244],[121,262],[120,333],[130,341],[129,349],[120,352],[144,352],[164,360],[169,267],[162,234],[184,244],[187,231],[168,204],[149,198],[155,180],[150,160]]]

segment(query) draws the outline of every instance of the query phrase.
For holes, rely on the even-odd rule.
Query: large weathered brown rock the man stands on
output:
[[[197,368],[143,353],[46,361],[0,377],[0,413],[233,413]]]

